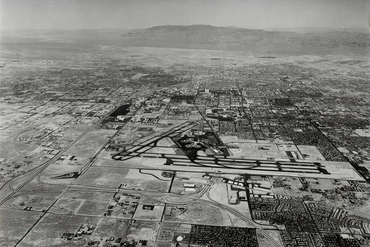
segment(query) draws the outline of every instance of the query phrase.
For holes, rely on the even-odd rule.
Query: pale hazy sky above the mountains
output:
[[[369,0],[1,0],[1,29],[369,27]]]

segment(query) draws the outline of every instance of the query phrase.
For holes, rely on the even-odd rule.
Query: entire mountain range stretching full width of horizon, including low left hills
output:
[[[288,30],[288,31],[287,31]],[[289,31],[291,30],[291,31]],[[349,30],[349,31],[346,31]],[[370,47],[370,32],[363,29],[245,29],[205,24],[155,26],[147,29],[13,30],[1,37],[37,38],[113,46],[147,46],[182,49],[271,53],[320,53],[356,51]],[[366,31],[366,30],[365,30]]]

